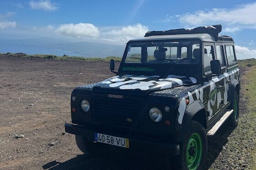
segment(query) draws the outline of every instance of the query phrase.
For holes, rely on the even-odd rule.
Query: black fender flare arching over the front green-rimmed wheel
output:
[[[191,120],[196,120],[201,123],[202,126],[206,127],[207,112],[204,104],[202,104],[200,100],[195,100],[193,103],[187,106],[182,124],[180,126],[179,141],[185,139]]]

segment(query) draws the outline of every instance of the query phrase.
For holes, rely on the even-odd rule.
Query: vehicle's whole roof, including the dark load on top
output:
[[[218,42],[233,42],[230,36],[220,36],[222,26],[210,25],[205,27],[197,27],[195,29],[174,29],[166,31],[149,31],[145,34],[144,39],[188,39],[199,38],[202,41],[218,41]],[[137,39],[140,41],[139,39]]]

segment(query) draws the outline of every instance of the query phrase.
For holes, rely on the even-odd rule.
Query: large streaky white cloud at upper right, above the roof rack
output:
[[[256,24],[256,2],[252,4],[240,5],[235,9],[212,9],[207,12],[199,10],[194,13],[186,13],[177,16],[183,25],[208,25],[224,23],[235,28],[227,29],[227,31],[238,31],[243,27],[254,27]]]

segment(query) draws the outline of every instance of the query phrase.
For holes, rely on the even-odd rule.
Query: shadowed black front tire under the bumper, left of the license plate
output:
[[[90,157],[103,157],[109,151],[106,145],[102,143],[93,143],[92,141],[88,141],[87,138],[79,135],[76,135],[76,144],[80,151]]]

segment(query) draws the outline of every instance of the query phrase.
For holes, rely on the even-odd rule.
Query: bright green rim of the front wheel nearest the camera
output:
[[[186,153],[186,161],[188,169],[194,170],[197,169],[201,162],[202,158],[202,138],[198,133],[194,133],[191,135],[188,140],[187,153]]]

